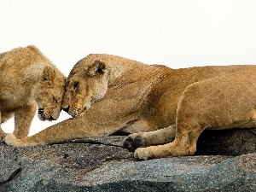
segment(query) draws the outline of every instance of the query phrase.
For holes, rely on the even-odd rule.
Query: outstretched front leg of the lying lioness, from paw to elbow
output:
[[[91,118],[83,118],[66,119],[58,124],[49,126],[31,137],[17,139],[13,134],[6,134],[4,141],[6,144],[15,147],[30,147],[61,143],[86,137],[106,137],[119,129],[119,125],[113,125],[112,121],[110,122],[111,125],[102,127],[97,122],[92,122]]]

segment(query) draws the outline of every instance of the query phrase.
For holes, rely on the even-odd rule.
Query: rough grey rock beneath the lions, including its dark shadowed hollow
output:
[[[254,130],[205,131],[195,156],[146,161],[121,147],[124,138],[2,143],[0,191],[256,191]]]

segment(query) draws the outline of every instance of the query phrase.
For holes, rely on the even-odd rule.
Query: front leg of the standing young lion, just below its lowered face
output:
[[[36,104],[23,106],[15,110],[15,131],[16,138],[27,137],[32,119],[37,110]]]

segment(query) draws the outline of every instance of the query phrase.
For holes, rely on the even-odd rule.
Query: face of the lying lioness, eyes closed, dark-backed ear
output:
[[[103,61],[96,60],[67,79],[62,108],[73,117],[82,116],[107,90],[108,70]]]

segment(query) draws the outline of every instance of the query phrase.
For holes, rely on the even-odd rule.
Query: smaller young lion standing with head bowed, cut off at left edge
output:
[[[28,135],[37,106],[39,119],[58,119],[66,78],[38,48],[2,53],[0,68],[0,120],[2,124],[15,116],[15,137]]]

